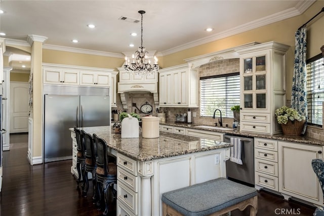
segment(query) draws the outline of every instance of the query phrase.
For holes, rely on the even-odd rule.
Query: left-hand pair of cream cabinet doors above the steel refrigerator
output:
[[[79,70],[43,67],[44,84],[79,85]]]

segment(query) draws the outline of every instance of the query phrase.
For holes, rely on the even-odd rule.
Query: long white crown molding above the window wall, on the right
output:
[[[258,28],[264,25],[268,25],[274,22],[278,22],[281,20],[285,20],[294,16],[301,15],[304,13],[315,1],[303,1],[299,5],[297,5],[294,8],[287,9],[285,11],[281,11],[266,17],[263,17],[261,19],[254,20],[252,22],[245,23],[243,25],[237,26],[235,28],[231,28],[225,31],[222,31],[217,34],[210,35],[206,38],[195,40],[165,51],[159,52],[161,55],[170,55],[172,53],[180,52],[182,50],[186,50],[189,48],[193,48],[199,45],[207,44],[213,41],[217,41],[226,37],[230,37],[234,34],[242,33],[248,30],[252,30],[254,28]]]

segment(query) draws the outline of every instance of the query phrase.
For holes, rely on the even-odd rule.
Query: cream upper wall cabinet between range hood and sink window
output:
[[[159,106],[198,107],[198,73],[188,64],[159,70]]]

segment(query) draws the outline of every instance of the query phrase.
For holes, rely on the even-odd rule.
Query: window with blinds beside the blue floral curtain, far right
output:
[[[307,122],[323,125],[322,102],[324,101],[324,65],[322,54],[307,60]]]

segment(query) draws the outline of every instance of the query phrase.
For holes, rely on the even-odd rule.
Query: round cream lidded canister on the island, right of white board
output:
[[[159,118],[155,116],[145,116],[142,118],[142,137],[157,138],[159,137]]]

